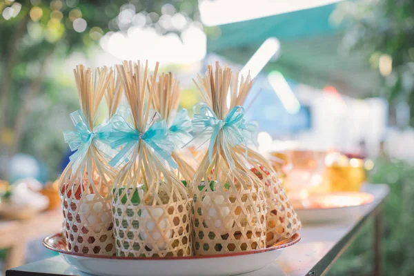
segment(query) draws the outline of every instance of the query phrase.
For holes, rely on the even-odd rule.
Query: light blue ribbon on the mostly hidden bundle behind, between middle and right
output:
[[[193,138],[188,133],[191,129],[191,119],[188,117],[188,111],[183,108],[177,112],[174,121],[172,121],[172,124],[168,128],[168,139],[179,148],[179,146],[185,144],[186,140],[188,141],[188,139]]]

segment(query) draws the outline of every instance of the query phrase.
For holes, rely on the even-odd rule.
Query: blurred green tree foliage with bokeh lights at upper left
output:
[[[159,19],[177,13],[184,26],[164,28]],[[199,21],[197,0],[0,0],[0,179],[8,178],[16,152],[57,176],[68,150],[61,133],[78,108],[72,75],[62,67],[73,52],[88,56],[106,33],[137,26],[136,18],[144,19],[141,27],[179,33]]]

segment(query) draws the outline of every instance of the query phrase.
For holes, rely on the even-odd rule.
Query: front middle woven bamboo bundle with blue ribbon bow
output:
[[[160,159],[170,159],[173,145],[166,140],[165,121],[151,115],[158,63],[152,76],[148,62],[124,61],[117,66],[132,124],[114,115],[117,139],[124,146],[110,164],[128,161],[115,178],[113,219],[118,256],[164,257],[192,254],[188,192]]]

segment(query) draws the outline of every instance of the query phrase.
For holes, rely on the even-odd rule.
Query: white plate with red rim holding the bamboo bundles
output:
[[[83,273],[99,276],[139,276],[139,275],[237,275],[264,268],[274,262],[283,248],[299,242],[299,234],[293,235],[266,249],[226,255],[190,257],[109,257],[70,253],[61,233],[43,239],[43,245],[60,253],[68,264]]]

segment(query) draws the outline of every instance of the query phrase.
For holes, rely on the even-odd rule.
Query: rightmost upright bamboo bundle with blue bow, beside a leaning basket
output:
[[[234,151],[242,110],[228,108],[233,73],[216,63],[195,81],[204,103],[195,107],[193,130],[211,135],[208,153],[195,172],[193,239],[196,255],[241,252],[266,247],[266,198],[262,182]],[[230,99],[230,102],[233,99]]]

